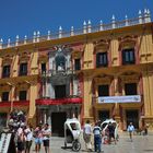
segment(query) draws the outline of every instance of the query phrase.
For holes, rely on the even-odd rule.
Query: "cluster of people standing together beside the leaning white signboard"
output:
[[[35,141],[35,152],[40,153],[44,143],[45,153],[49,153],[49,138],[51,130],[48,123],[38,125],[33,128],[26,121],[26,115],[22,110],[13,110],[8,122],[9,129],[14,133],[14,142],[17,153],[30,153],[33,140]]]

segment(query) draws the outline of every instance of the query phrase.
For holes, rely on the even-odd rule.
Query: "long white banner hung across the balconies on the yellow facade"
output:
[[[139,103],[139,102],[141,102],[140,95],[98,97],[98,103]]]

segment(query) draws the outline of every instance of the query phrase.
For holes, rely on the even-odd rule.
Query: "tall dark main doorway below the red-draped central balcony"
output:
[[[52,136],[63,137],[63,123],[67,120],[67,113],[51,113],[51,132]]]

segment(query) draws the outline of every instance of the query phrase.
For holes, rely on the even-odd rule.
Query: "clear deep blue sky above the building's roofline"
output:
[[[70,31],[82,28],[83,22],[92,25],[138,17],[139,10],[150,9],[153,16],[153,0],[0,0],[0,38],[15,40],[19,35],[32,38],[34,31],[47,35],[57,33],[59,26]],[[153,17],[152,17],[153,19]]]

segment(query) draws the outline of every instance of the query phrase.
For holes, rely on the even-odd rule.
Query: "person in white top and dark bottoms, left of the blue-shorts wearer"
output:
[[[33,143],[33,127],[31,125],[27,125],[27,127],[24,130],[26,142],[25,142],[25,153],[31,152],[31,146]]]

